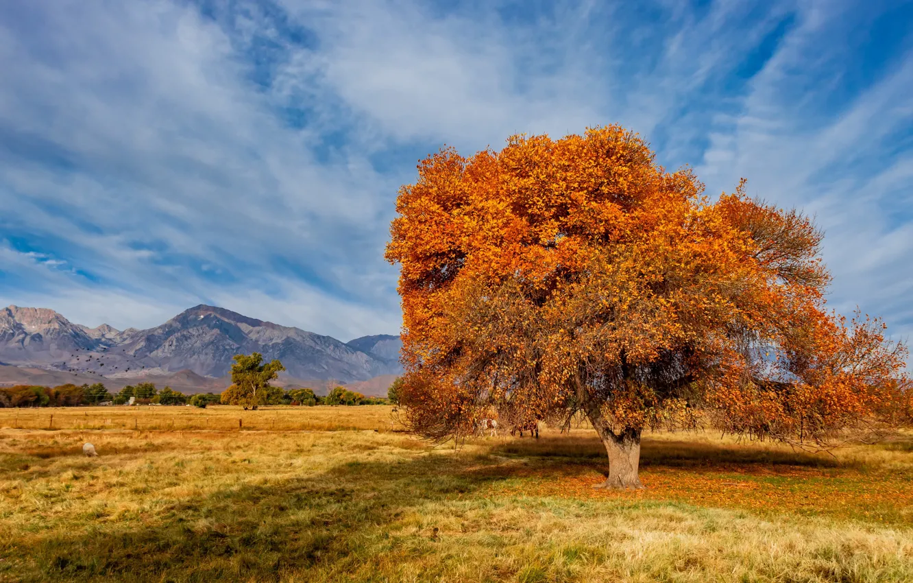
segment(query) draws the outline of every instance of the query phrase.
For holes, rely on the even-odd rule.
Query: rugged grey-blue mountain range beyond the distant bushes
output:
[[[211,384],[229,373],[234,355],[253,352],[266,360],[278,358],[287,379],[367,381],[402,371],[400,346],[399,336],[380,334],[343,343],[202,304],[160,326],[123,331],[108,324],[89,328],[71,323],[45,308],[0,309],[0,365],[118,385],[156,376],[164,381],[178,372],[192,384],[200,383],[194,378]]]

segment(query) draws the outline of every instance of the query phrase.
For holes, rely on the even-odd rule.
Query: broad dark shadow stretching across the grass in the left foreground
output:
[[[430,529],[404,530],[402,521],[415,526],[425,504],[456,500],[509,475],[465,472],[475,461],[431,455],[352,462],[268,485],[175,499],[145,517],[145,525],[87,519],[78,532],[0,544],[0,581],[307,580],[311,569],[329,580],[349,578],[372,561],[408,561],[433,552]]]

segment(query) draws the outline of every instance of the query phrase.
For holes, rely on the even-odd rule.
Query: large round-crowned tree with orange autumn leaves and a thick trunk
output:
[[[822,235],[800,212],[711,201],[636,134],[442,150],[399,192],[399,390],[425,437],[582,412],[606,487],[640,487],[643,429],[713,423],[828,446],[907,407],[906,348],[824,308]]]

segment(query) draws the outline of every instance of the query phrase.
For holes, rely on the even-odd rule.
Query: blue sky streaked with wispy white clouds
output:
[[[908,2],[0,3],[0,303],[197,303],[395,334],[399,185],[447,143],[622,123],[824,228],[829,302],[913,332]]]

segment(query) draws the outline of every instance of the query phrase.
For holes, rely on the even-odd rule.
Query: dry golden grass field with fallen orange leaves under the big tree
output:
[[[913,440],[648,434],[647,489],[605,492],[586,429],[394,429],[379,406],[0,409],[0,581],[913,580]]]

